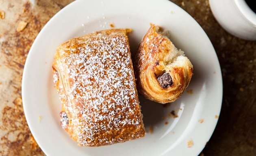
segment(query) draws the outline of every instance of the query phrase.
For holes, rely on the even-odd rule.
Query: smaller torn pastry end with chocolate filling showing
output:
[[[137,89],[146,98],[165,104],[177,100],[189,85],[193,65],[159,26],[151,25],[135,58]]]

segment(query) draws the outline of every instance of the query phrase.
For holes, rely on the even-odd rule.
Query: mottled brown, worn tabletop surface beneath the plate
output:
[[[216,50],[223,78],[223,102],[213,136],[201,156],[256,155],[256,41],[228,34],[208,0],[171,0],[202,26]],[[72,0],[0,0],[0,155],[44,155],[30,133],[22,108],[26,56],[46,22]],[[1,19],[1,13],[5,13]],[[17,31],[21,21],[27,23]],[[54,147],[53,147],[54,148]]]

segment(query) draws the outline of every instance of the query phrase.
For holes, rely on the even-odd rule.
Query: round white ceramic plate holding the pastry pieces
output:
[[[79,147],[61,129],[61,103],[52,82],[56,47],[96,30],[132,28],[132,55],[150,27],[169,30],[171,41],[194,65],[187,91],[169,107],[139,96],[145,137],[103,147]],[[22,100],[28,126],[48,156],[196,156],[215,129],[222,101],[222,79],[215,50],[204,30],[180,7],[167,0],[76,0],[43,27],[28,54],[22,78]],[[177,118],[169,117],[174,110]],[[39,122],[38,118],[41,117]],[[203,119],[200,124],[198,120]],[[168,122],[168,124],[165,124]],[[153,133],[149,133],[152,126]],[[187,141],[193,141],[187,147]]]

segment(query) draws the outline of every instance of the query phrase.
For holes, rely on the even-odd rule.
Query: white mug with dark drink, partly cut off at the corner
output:
[[[245,0],[209,0],[219,24],[230,34],[256,41],[256,13]]]

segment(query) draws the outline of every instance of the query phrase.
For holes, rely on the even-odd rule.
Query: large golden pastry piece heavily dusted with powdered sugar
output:
[[[78,145],[101,146],[143,137],[128,37],[131,29],[87,34],[59,45],[53,77],[61,126]]]

